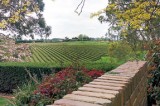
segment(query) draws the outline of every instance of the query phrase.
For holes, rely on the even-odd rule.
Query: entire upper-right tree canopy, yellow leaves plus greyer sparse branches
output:
[[[104,15],[105,14],[105,15]],[[110,22],[124,38],[152,41],[160,38],[159,0],[110,0],[103,10],[93,13],[101,22]]]

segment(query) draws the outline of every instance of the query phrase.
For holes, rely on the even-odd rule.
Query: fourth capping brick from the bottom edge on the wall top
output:
[[[98,88],[91,88],[91,87],[80,87],[78,90],[97,92],[97,93],[107,93],[107,94],[113,94],[113,95],[117,95],[119,93],[119,91],[105,90],[105,89],[98,89]]]

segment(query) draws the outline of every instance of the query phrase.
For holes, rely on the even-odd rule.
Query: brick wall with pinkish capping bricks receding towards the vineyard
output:
[[[51,106],[147,106],[145,61],[127,62]]]

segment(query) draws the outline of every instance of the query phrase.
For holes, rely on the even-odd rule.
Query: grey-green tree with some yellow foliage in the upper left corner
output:
[[[31,35],[33,38],[34,35],[48,33],[41,14],[43,9],[43,0],[1,0],[0,29],[9,30],[17,37]]]

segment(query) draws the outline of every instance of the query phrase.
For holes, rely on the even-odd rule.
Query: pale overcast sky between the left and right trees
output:
[[[108,0],[86,0],[83,13],[78,16],[74,10],[81,0],[44,0],[44,17],[52,26],[50,38],[75,37],[86,34],[101,37],[107,32],[108,25],[101,24],[97,17],[90,19],[90,14],[106,7]]]

